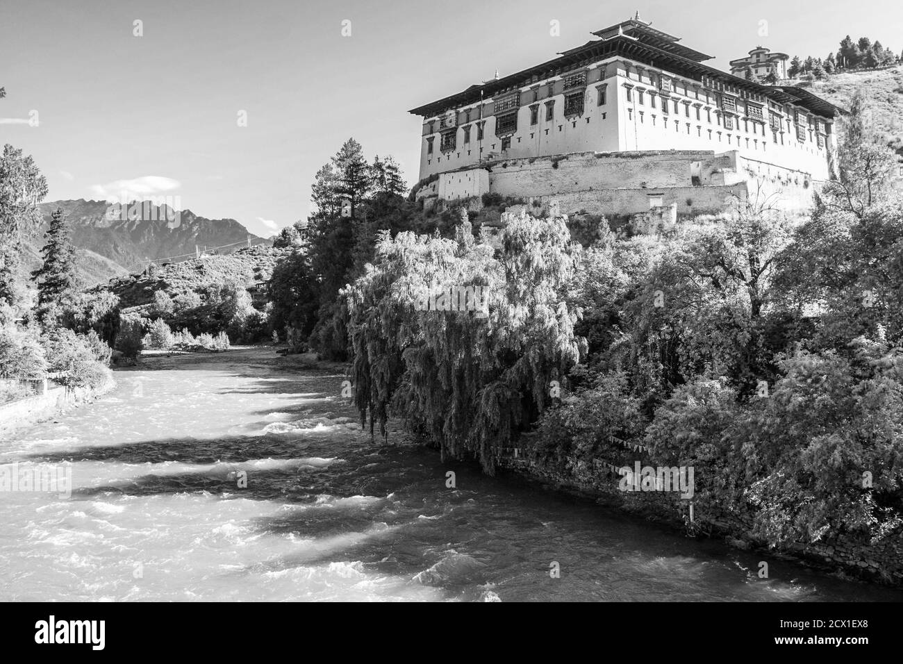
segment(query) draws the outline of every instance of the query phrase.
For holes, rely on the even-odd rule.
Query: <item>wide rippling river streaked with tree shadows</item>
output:
[[[71,473],[0,493],[0,600],[903,599],[373,442],[342,380],[266,348],[152,359],[0,442]]]

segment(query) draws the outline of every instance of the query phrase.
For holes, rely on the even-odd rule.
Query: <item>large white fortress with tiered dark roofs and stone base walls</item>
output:
[[[712,56],[638,16],[592,34],[553,60],[414,108],[424,118],[416,198],[497,192],[686,216],[760,192],[803,210],[830,178],[841,108],[714,69],[704,64]]]

